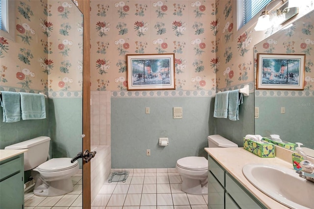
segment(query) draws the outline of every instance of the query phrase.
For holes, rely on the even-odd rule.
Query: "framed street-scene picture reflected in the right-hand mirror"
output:
[[[257,89],[304,89],[305,54],[257,54]]]

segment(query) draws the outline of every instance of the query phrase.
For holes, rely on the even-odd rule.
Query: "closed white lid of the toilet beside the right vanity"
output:
[[[189,170],[207,170],[208,161],[205,157],[183,157],[177,160],[179,167]]]

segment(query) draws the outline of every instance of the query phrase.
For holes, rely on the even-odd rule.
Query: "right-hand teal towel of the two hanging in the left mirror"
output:
[[[45,95],[20,92],[23,120],[46,118]]]

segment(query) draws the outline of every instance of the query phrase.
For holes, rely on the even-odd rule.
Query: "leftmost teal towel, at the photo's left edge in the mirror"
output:
[[[13,123],[21,120],[20,94],[1,91],[0,102],[3,111],[3,122]]]

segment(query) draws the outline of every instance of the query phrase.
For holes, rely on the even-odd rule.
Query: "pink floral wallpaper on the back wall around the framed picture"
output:
[[[91,0],[91,90],[126,91],[126,54],[144,53],[175,53],[177,90],[214,90],[215,11],[214,0]]]

